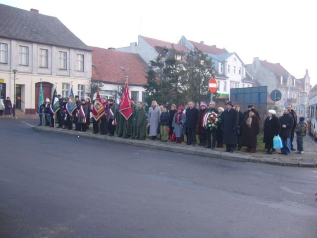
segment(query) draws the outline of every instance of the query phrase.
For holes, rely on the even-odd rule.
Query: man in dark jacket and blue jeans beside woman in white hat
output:
[[[288,155],[291,153],[291,136],[294,119],[290,115],[290,112],[287,108],[284,108],[283,115],[279,118],[279,122],[281,124],[279,136],[281,137],[283,144],[283,147],[281,148],[281,154]]]

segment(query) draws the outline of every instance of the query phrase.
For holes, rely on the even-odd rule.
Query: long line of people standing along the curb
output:
[[[121,113],[119,103],[113,99],[102,99],[100,107],[104,114],[100,118],[92,117],[95,100],[91,103],[87,98],[79,100],[75,96],[77,109],[70,115],[67,113],[66,99],[58,95],[60,110],[54,115],[50,112],[50,100],[47,99],[39,109],[40,124],[54,127],[54,122],[58,124],[57,128],[73,129],[86,131],[91,123],[93,124],[93,133],[109,136],[145,140],[148,134],[151,140],[160,140],[167,142],[170,140],[175,143],[185,142],[187,145],[202,146],[206,149],[214,150],[216,147],[223,148],[226,152],[234,152],[246,147],[245,151],[255,153],[258,150],[258,134],[260,133],[261,118],[259,112],[253,105],[248,105],[248,110],[242,113],[239,105],[233,105],[228,101],[226,109],[215,107],[215,102],[210,102],[209,107],[206,102],[201,102],[199,109],[195,103],[190,101],[186,108],[176,107],[171,104],[159,104],[153,101],[145,112],[142,102],[135,104],[134,99],[130,99],[132,115],[126,119]],[[54,119],[56,116],[56,120]],[[214,118],[213,118],[214,117]],[[213,119],[212,119],[213,118]],[[297,150],[303,154],[303,137],[306,135],[307,124],[304,118],[297,119],[297,115],[288,105],[283,110],[283,115],[276,117],[274,110],[269,110],[264,121],[265,151],[267,154],[275,154],[273,139],[279,135],[282,141],[280,153],[289,154],[293,147],[294,134],[297,134]],[[197,141],[197,137],[198,140]]]

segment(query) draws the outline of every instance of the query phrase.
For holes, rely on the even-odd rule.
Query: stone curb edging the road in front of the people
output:
[[[211,150],[204,150],[200,148],[196,148],[196,150],[191,149],[191,147],[179,147],[170,145],[166,146],[165,143],[155,143],[150,140],[133,140],[133,139],[125,139],[121,137],[115,137],[115,136],[102,136],[97,134],[87,134],[83,132],[77,132],[77,131],[69,131],[69,130],[60,130],[56,128],[45,128],[42,129],[39,126],[33,127],[35,130],[38,131],[48,131],[56,134],[65,134],[65,135],[72,135],[72,136],[78,136],[78,137],[84,137],[89,139],[95,139],[95,140],[105,140],[110,142],[116,142],[126,145],[133,145],[133,146],[140,146],[150,149],[158,149],[163,151],[169,151],[169,152],[176,152],[176,153],[183,153],[183,154],[190,154],[190,155],[198,155],[198,156],[204,156],[214,159],[221,159],[221,160],[231,160],[231,161],[237,161],[237,162],[245,162],[245,163],[260,163],[260,164],[268,164],[268,165],[277,165],[277,166],[284,166],[284,167],[302,167],[302,168],[316,168],[316,163],[311,162],[282,162],[279,159],[274,158],[267,158],[267,157],[260,157],[259,155],[241,155],[241,154],[234,154],[234,153],[228,153],[228,152],[220,152],[220,151],[211,151]],[[212,152],[212,153],[211,153]]]

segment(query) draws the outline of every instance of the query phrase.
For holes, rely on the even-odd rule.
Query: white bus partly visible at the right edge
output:
[[[308,101],[309,134],[317,140],[317,84],[311,89]]]

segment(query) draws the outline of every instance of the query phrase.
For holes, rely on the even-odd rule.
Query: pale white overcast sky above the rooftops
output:
[[[86,45],[127,47],[138,36],[178,43],[182,36],[254,58],[280,63],[317,84],[317,14],[313,0],[0,0],[57,17]],[[315,23],[314,23],[315,22]]]

